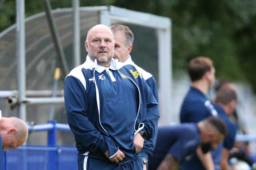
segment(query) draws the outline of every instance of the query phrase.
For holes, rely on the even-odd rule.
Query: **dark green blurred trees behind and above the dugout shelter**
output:
[[[72,0],[51,0],[52,8]],[[26,0],[26,16],[43,12],[42,0]],[[81,0],[80,6],[113,5],[172,19],[174,72],[189,59],[210,57],[216,76],[250,82],[256,90],[256,0]],[[16,1],[0,7],[0,31],[15,23]],[[175,74],[174,74],[175,76]]]

